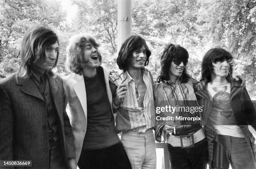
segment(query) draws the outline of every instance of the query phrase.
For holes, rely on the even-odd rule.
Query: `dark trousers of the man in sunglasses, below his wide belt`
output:
[[[208,147],[206,138],[195,147],[181,148],[167,144],[172,169],[207,169]]]

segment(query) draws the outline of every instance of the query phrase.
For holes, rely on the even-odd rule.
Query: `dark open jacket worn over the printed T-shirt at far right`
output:
[[[206,84],[206,81],[201,81],[199,84],[195,85],[194,90],[197,100],[199,100],[201,105],[204,105],[204,112],[202,116],[205,123],[205,135],[208,140],[209,164],[211,165],[213,158],[213,141],[215,140],[216,142],[218,142],[218,134],[216,133],[214,127],[208,125],[207,123],[207,119],[211,109],[211,101],[206,89]],[[253,103],[251,102],[249,94],[244,86],[241,86],[238,82],[232,79],[230,82],[230,87],[230,102],[236,118],[237,125],[239,125],[239,127],[241,128],[246,141],[249,145],[251,145],[253,152],[255,152],[255,139],[247,126],[248,124],[251,124],[251,126],[256,129],[256,111],[253,107]],[[220,156],[218,157],[218,159],[222,159],[222,147],[219,147],[217,151],[217,154]],[[223,164],[221,164],[221,162],[217,165],[219,168],[223,168]]]

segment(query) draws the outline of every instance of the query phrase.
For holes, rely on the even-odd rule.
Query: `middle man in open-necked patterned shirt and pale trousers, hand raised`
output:
[[[120,70],[110,73],[110,87],[115,91],[116,130],[133,169],[155,169],[156,149],[152,75],[145,66],[151,51],[146,41],[131,35],[118,53]]]

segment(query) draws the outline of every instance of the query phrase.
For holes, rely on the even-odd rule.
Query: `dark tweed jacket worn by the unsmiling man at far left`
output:
[[[75,154],[62,80],[59,76],[49,77],[49,85],[58,113],[60,147],[67,164],[67,158]],[[46,112],[46,103],[31,78],[20,77],[16,72],[0,81],[0,160],[32,160],[29,169],[48,168]]]

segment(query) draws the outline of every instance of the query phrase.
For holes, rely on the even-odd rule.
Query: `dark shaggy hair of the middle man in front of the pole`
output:
[[[140,50],[142,46],[144,46],[146,49],[146,62],[144,66],[148,65],[151,51],[148,49],[146,40],[144,40],[139,35],[131,35],[127,37],[127,39],[125,40],[125,42],[123,42],[119,50],[118,58],[116,61],[119,69],[126,71],[132,61],[133,52],[136,50]]]

